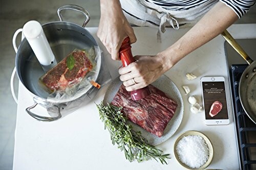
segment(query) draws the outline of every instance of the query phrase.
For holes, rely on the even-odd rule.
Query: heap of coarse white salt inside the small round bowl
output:
[[[182,137],[176,146],[180,161],[191,168],[199,168],[209,159],[209,148],[199,135]]]

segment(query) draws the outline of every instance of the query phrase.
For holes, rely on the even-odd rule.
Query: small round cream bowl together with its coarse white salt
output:
[[[198,131],[182,133],[174,144],[176,160],[187,169],[205,169],[214,158],[214,148],[208,137]]]

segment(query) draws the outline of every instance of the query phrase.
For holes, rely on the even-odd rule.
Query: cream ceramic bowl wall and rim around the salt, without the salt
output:
[[[198,136],[201,136],[204,140],[205,140],[205,143],[207,144],[208,148],[209,148],[209,159],[205,162],[204,165],[202,165],[201,167],[199,168],[191,168],[189,166],[187,166],[186,164],[182,163],[178,157],[178,154],[176,152],[176,147],[177,147],[177,143],[178,141],[184,137],[184,136],[188,136],[188,135],[198,135]],[[175,141],[174,143],[174,155],[175,155],[175,158],[176,160],[180,163],[181,166],[187,168],[187,169],[193,169],[193,170],[202,170],[202,169],[205,169],[207,166],[209,166],[209,164],[211,163],[212,159],[214,158],[214,148],[212,147],[212,144],[210,142],[210,140],[208,139],[207,136],[205,136],[203,133],[201,132],[198,132],[198,131],[186,131],[184,133],[182,133]]]

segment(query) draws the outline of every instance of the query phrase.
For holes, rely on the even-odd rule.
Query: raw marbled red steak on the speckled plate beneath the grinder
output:
[[[148,88],[151,91],[150,95],[133,101],[130,92],[121,85],[111,104],[122,106],[122,113],[133,123],[161,137],[178,105],[158,88],[152,85],[148,85]]]

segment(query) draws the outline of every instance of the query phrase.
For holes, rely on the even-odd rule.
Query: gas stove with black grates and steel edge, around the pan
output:
[[[256,39],[237,40],[247,54],[253,59],[256,49]],[[239,98],[239,82],[248,64],[233,48],[225,42],[227,64],[229,68],[229,83],[232,94],[233,117],[237,133],[237,146],[240,158],[240,169],[256,169],[256,124],[245,113]],[[254,56],[252,56],[254,55]],[[254,57],[254,58],[253,58]]]

